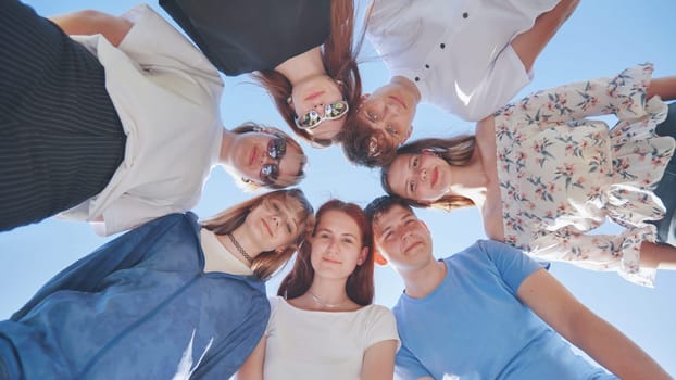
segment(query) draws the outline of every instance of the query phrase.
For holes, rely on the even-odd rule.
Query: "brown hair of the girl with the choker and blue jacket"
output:
[[[245,223],[251,210],[272,199],[277,199],[287,204],[296,202],[298,205],[291,207],[291,210],[297,210],[296,217],[300,225],[298,226],[298,236],[289,246],[281,252],[276,250],[265,251],[253,258],[251,269],[262,280],[267,280],[280,266],[286,264],[305,236],[314,228],[314,210],[302,190],[272,191],[239,203],[205,220],[201,220],[202,227],[208,230],[216,235],[227,235]]]

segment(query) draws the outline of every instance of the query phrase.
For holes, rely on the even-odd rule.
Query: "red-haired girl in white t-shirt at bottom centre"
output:
[[[325,203],[237,378],[392,379],[399,337],[392,313],[372,304],[372,246],[361,207]]]

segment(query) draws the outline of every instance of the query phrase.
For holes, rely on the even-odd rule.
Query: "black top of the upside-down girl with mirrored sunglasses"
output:
[[[160,0],[226,75],[273,69],[324,43],[330,0]]]

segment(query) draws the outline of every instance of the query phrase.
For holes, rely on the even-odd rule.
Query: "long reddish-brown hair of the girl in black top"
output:
[[[359,74],[356,55],[361,49],[364,34],[353,42],[354,34],[354,2],[353,0],[331,0],[330,8],[330,33],[322,47],[322,62],[326,74],[334,80],[339,80],[338,88],[343,99],[350,105],[346,115],[343,130],[356,113],[356,105],[362,96],[362,79]],[[253,77],[270,92],[277,111],[289,127],[300,138],[322,147],[328,147],[334,142],[342,141],[342,131],[338,132],[333,140],[313,139],[306,130],[296,126],[296,113],[287,99],[291,96],[291,83],[281,73],[274,69],[265,69],[252,74]],[[351,123],[351,122],[350,122]]]

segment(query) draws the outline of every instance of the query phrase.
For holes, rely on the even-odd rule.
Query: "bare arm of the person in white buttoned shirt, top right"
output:
[[[526,72],[533,68],[535,60],[561,28],[561,25],[573,14],[577,4],[579,4],[579,0],[561,0],[551,11],[538,16],[530,29],[512,40],[512,49],[524,63]]]

